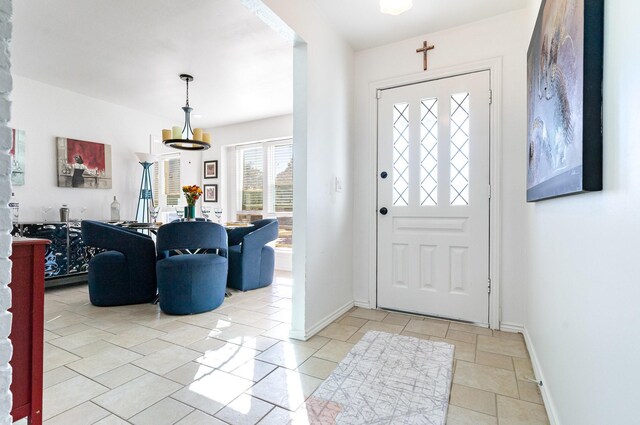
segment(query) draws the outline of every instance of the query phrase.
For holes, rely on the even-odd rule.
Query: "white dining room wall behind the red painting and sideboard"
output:
[[[149,136],[171,122],[139,111],[14,75],[9,125],[26,132],[25,184],[13,188],[20,220],[42,220],[41,207],[52,206],[48,220],[59,220],[66,203],[72,218],[108,219],[116,195],[120,217],[134,219],[142,166],[134,152],[149,152]],[[56,137],[111,145],[112,189],[57,187]]]

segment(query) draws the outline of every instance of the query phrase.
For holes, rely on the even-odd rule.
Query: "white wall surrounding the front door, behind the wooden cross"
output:
[[[375,279],[375,256],[369,247],[376,243],[376,135],[375,98],[371,87],[376,82],[412,75],[422,70],[422,55],[416,54],[423,40],[435,45],[429,53],[430,70],[493,58],[502,59],[502,128],[493,129],[502,141],[502,255],[500,270],[502,322],[522,325],[523,314],[523,250],[521,217],[524,214],[526,132],[526,73],[524,60],[528,35],[526,10],[497,16],[452,30],[427,34],[398,43],[364,50],[356,54],[356,127],[354,161],[354,298],[359,305],[369,305],[369,283]],[[419,79],[416,79],[419,81]],[[375,116],[375,115],[374,115]],[[495,184],[495,182],[494,182]],[[373,251],[375,252],[375,251]],[[375,307],[375,305],[371,305]]]

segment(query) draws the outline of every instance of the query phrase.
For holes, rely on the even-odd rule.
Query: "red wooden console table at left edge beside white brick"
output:
[[[42,424],[44,339],[44,253],[46,239],[14,239],[11,254],[11,343],[13,378],[11,415]]]

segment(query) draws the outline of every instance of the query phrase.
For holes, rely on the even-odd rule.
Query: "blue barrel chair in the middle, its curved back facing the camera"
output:
[[[158,229],[158,297],[167,314],[195,314],[222,304],[227,282],[227,232],[208,221],[174,221]]]

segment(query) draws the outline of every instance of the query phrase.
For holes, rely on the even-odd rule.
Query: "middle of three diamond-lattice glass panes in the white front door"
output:
[[[420,105],[420,205],[438,205],[438,99]]]

